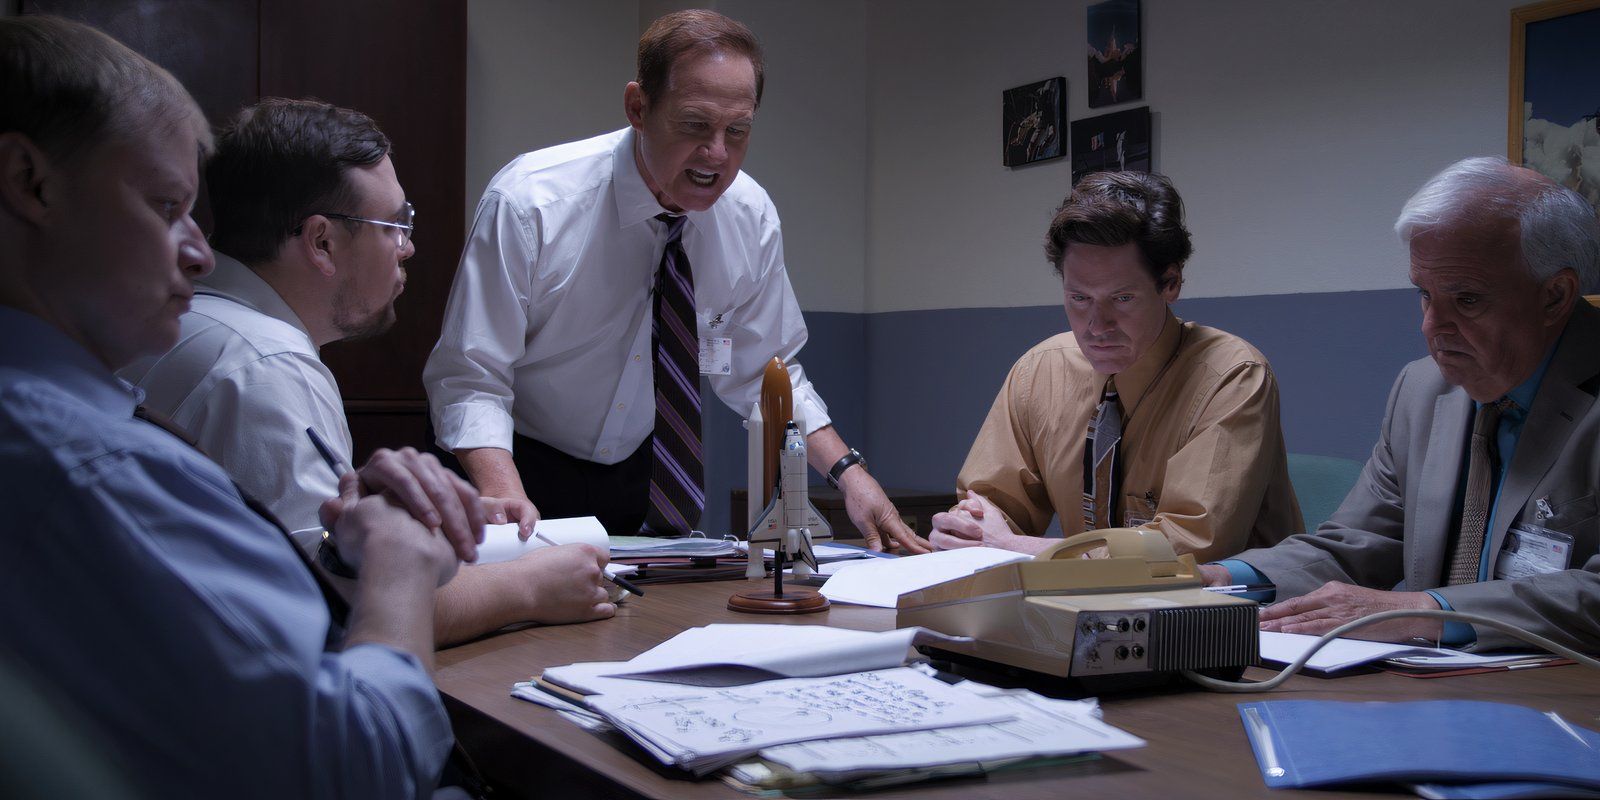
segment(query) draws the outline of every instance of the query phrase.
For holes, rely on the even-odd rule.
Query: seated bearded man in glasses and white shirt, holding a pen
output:
[[[394,325],[414,213],[378,123],[318,101],[243,109],[218,138],[206,189],[216,269],[195,280],[178,344],[120,374],[285,526],[314,534],[301,538],[310,549],[339,482],[306,429],[352,462],[344,400],[318,350]],[[483,501],[490,522],[506,522]],[[438,589],[435,638],[608,618],[605,562],[563,546],[467,565]]]

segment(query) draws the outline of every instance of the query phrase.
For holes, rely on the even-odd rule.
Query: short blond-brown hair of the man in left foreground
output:
[[[0,19],[0,133],[70,162],[150,125],[192,128],[200,150],[211,149],[200,106],[150,59],[70,19]]]

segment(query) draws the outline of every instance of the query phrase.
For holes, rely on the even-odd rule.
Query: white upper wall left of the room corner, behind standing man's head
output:
[[[784,221],[808,310],[866,310],[866,24],[859,0],[472,0],[467,205],[518,154],[626,125],[622,86],[658,16],[714,6],[766,50],[766,94],[744,168]]]

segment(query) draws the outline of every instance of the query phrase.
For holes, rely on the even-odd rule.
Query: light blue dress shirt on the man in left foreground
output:
[[[221,467],[0,307],[0,637],[152,797],[427,797],[450,722],[414,658],[330,651],[326,605]]]

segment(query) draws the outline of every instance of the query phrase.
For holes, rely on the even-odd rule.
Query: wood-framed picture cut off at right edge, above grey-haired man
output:
[[[1600,0],[1510,13],[1506,157],[1600,208]]]

